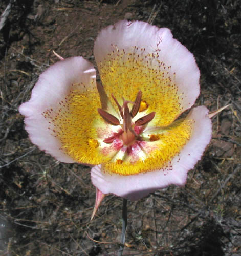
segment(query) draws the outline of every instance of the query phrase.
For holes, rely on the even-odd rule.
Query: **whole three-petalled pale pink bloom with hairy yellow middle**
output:
[[[93,166],[101,198],[184,185],[211,139],[205,106],[180,118],[200,93],[193,55],[169,29],[123,20],[100,32],[94,56],[102,85],[82,57],[40,75],[19,108],[31,141],[62,162]]]

